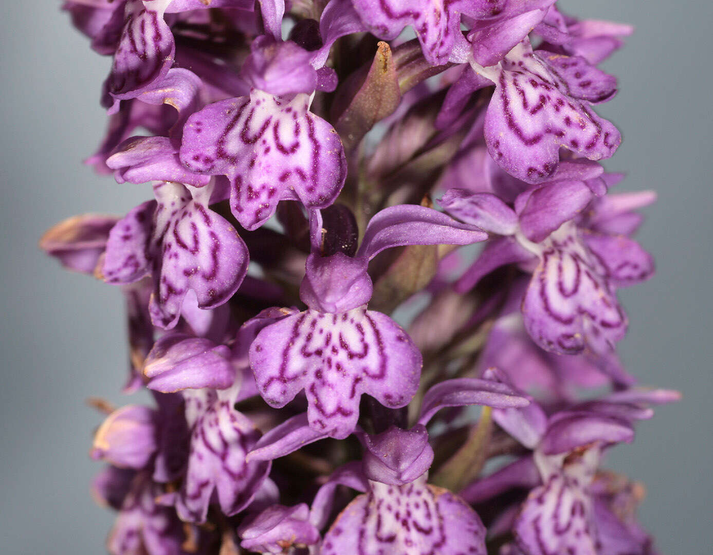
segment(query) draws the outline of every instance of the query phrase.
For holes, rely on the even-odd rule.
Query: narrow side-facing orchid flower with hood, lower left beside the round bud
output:
[[[208,339],[171,333],[156,343],[145,373],[148,388],[185,398],[185,418],[190,429],[190,453],[183,486],[165,496],[175,504],[181,519],[205,522],[211,502],[231,516],[245,509],[270,472],[269,462],[247,462],[245,455],[260,432],[234,405],[244,393],[243,376],[237,374],[230,349]]]

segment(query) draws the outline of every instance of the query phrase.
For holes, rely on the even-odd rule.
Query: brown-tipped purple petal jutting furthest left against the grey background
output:
[[[116,216],[73,216],[48,229],[40,239],[40,248],[65,268],[91,275],[116,222]]]

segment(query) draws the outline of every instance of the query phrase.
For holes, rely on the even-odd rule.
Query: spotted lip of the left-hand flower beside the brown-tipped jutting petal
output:
[[[158,182],[153,190],[155,201],[140,204],[112,229],[101,275],[128,284],[150,274],[151,318],[173,328],[188,291],[204,309],[230,299],[247,272],[248,253],[235,228],[207,207],[211,187]]]

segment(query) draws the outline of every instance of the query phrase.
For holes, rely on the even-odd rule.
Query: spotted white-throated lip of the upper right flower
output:
[[[496,91],[486,112],[485,137],[493,160],[528,183],[550,180],[561,147],[600,160],[614,154],[621,135],[578,98],[555,73],[566,56],[540,58],[526,43],[513,48],[494,76]],[[522,64],[520,66],[520,64]],[[585,88],[585,83],[577,85]]]

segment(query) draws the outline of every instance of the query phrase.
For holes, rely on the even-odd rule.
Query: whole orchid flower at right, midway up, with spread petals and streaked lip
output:
[[[613,351],[627,326],[615,287],[653,273],[650,255],[632,239],[578,226],[578,214],[600,192],[593,177],[587,165],[570,162],[553,182],[519,194],[514,209],[493,194],[464,190],[450,190],[441,201],[454,216],[502,236],[456,289],[471,289],[503,264],[535,262],[523,299],[525,327],[535,343],[555,353]]]

